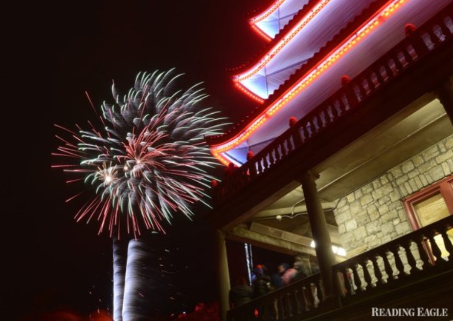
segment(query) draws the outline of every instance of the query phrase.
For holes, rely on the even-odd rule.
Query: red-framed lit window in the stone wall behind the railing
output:
[[[403,199],[403,202],[413,230],[453,214],[453,176],[448,176],[419,190]],[[453,229],[450,229],[447,234],[453,242]],[[437,235],[434,239],[442,252],[442,257],[446,258],[448,252],[445,249],[442,236]],[[429,247],[428,241],[426,244]],[[434,260],[434,257],[432,256],[431,259]]]

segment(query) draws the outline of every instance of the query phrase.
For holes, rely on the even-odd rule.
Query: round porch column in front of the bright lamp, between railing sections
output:
[[[301,182],[310,228],[313,233],[314,242],[316,243],[316,257],[318,258],[321,277],[324,283],[324,291],[326,297],[332,297],[335,295],[332,266],[336,264],[336,260],[332,251],[326,217],[324,216],[321,200],[316,189],[316,178],[318,177],[314,176],[313,173],[307,172],[302,175]]]

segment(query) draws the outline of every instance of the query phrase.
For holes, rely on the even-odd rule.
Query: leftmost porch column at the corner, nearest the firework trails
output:
[[[219,287],[219,316],[220,321],[226,321],[226,311],[230,309],[230,272],[228,270],[228,257],[226,256],[225,233],[217,230],[217,272]]]

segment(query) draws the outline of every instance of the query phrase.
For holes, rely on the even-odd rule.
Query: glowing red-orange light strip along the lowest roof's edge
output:
[[[374,15],[373,18],[369,20],[367,24],[359,28],[352,33],[343,44],[335,48],[330,55],[328,55],[323,61],[314,66],[305,76],[302,77],[302,80],[293,85],[288,89],[279,100],[277,100],[273,105],[269,106],[266,111],[261,113],[255,121],[249,125],[243,132],[239,133],[233,137],[229,142],[211,146],[211,153],[216,157],[221,163],[228,164],[230,161],[225,158],[221,153],[226,152],[239,145],[245,141],[250,135],[252,135],[267,119],[272,115],[281,110],[289,101],[294,97],[299,95],[314,79],[318,78],[323,74],[335,61],[344,56],[345,53],[349,52],[352,47],[354,47],[358,42],[363,40],[367,35],[370,34],[370,31],[375,29],[379,24],[381,24],[390,14],[401,6],[406,0],[394,0],[388,3],[384,9],[380,10],[378,14]]]

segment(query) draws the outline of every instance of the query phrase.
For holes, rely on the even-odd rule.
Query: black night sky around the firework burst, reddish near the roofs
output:
[[[99,108],[111,100],[112,80],[126,92],[138,72],[170,68],[185,73],[188,84],[203,81],[206,105],[240,120],[256,103],[233,88],[230,69],[266,45],[246,17],[272,2],[17,4],[4,47],[13,89],[4,90],[12,101],[3,106],[3,304],[11,312],[5,319],[62,308],[81,314],[111,309],[111,240],[107,233],[97,236],[96,224],[76,223],[78,207],[65,203],[70,191],[62,172],[51,168],[59,145],[54,124],[75,128],[95,117],[85,92]],[[206,277],[214,265],[207,227],[183,219],[167,230],[159,249],[176,253],[176,268],[187,263],[191,271],[176,277],[176,286],[187,301],[208,301],[216,289]]]

